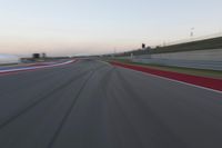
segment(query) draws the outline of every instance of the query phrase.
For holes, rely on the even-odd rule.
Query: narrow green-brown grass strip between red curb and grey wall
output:
[[[159,69],[159,70],[173,71],[173,72],[179,72],[179,73],[186,73],[186,75],[201,76],[201,77],[206,77],[206,78],[222,79],[222,71],[216,71],[216,70],[171,67],[171,66],[162,66],[162,65],[150,65],[150,63],[132,62],[130,60],[124,60],[124,59],[118,59],[118,60],[115,59],[114,61],[130,63],[130,65],[138,65],[138,66],[154,68],[154,69]]]

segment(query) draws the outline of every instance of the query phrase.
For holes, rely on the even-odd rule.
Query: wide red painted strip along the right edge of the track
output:
[[[140,67],[140,66],[125,65],[125,63],[120,63],[120,62],[114,62],[114,61],[112,61],[111,65],[120,66],[120,67],[124,67],[124,68],[129,68],[129,69],[142,71],[142,72],[157,75],[157,76],[183,81],[186,83],[192,83],[195,86],[222,91],[222,80],[221,79],[213,79],[213,78],[191,76],[191,75],[185,75],[185,73],[178,73],[178,72],[172,72],[172,71],[164,71],[164,70],[158,70],[158,69],[145,68],[145,67]]]

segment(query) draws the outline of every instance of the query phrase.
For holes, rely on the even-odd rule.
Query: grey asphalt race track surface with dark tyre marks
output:
[[[0,76],[0,148],[221,148],[222,93],[94,60]]]

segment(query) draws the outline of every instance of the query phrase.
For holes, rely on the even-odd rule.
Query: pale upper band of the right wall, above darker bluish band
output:
[[[222,61],[222,49],[195,50],[172,53],[144,55],[134,58],[170,59],[170,60],[200,60]]]

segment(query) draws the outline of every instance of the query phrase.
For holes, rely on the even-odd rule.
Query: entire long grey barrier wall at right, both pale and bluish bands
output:
[[[222,49],[121,57],[134,62],[222,70]]]

